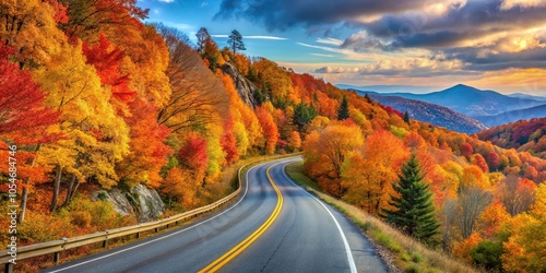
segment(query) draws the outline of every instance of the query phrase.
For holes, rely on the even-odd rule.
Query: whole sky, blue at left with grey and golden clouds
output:
[[[147,22],[334,84],[546,96],[546,0],[139,0]],[[417,88],[418,90],[418,88]]]

